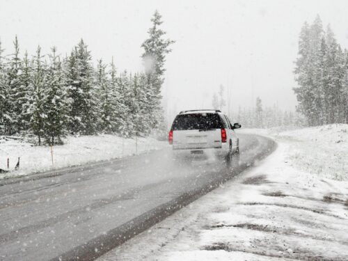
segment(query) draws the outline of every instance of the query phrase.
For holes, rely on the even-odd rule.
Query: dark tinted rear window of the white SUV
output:
[[[217,113],[192,113],[176,116],[172,129],[220,129],[221,120]]]

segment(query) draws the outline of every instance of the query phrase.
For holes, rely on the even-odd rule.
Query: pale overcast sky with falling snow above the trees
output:
[[[212,107],[212,93],[232,90],[232,109],[260,96],[294,110],[294,60],[303,22],[317,14],[348,47],[348,1],[13,1],[0,0],[6,54],[18,35],[21,52],[55,45],[65,55],[84,38],[94,61],[114,57],[119,70],[143,70],[141,43],[155,10],[176,40],[166,61],[164,97],[171,113]]]

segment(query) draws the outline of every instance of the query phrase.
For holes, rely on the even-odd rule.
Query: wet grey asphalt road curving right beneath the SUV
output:
[[[172,160],[171,149],[49,177],[0,182],[0,260],[93,260],[237,175],[275,148],[239,134],[230,171],[214,159]]]

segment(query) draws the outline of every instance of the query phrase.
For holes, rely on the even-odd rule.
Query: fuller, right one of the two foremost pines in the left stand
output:
[[[56,54],[56,47],[52,47],[49,56],[50,63],[45,77],[44,104],[45,112],[44,132],[49,145],[61,143],[61,137],[65,136],[68,125],[68,112],[70,101],[65,84],[63,67],[60,58]]]

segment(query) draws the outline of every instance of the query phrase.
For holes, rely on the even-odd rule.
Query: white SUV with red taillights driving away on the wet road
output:
[[[239,139],[228,117],[219,110],[181,111],[169,132],[175,155],[204,155],[213,152],[228,164],[239,161]]]

